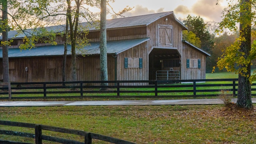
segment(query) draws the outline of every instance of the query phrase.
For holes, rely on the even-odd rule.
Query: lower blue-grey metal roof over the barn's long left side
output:
[[[149,38],[140,38],[134,40],[117,40],[107,42],[107,53],[108,54],[119,54],[128,50],[134,46],[137,46],[143,42],[148,41]],[[91,42],[89,46],[85,46],[85,54],[100,54],[100,42]],[[78,50],[76,51],[78,54]],[[40,46],[32,48],[30,50],[20,50],[19,48],[9,48],[8,57],[32,57],[32,56],[61,56],[64,54],[64,45],[57,46]],[[68,55],[71,55],[71,46],[68,45]],[[2,49],[0,50],[0,58],[2,58]]]

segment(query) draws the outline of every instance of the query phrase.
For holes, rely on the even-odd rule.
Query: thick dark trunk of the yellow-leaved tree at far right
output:
[[[249,17],[251,15],[250,0],[241,0],[240,17]],[[244,58],[247,59],[251,50],[251,20],[249,22],[240,22],[240,37],[245,38],[241,41],[240,52],[244,52]],[[252,108],[251,85],[249,76],[251,75],[251,63],[240,65],[240,68],[246,68],[238,74],[238,100],[237,105],[241,108]]]

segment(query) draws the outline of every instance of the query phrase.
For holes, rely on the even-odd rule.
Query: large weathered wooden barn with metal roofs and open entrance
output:
[[[88,23],[81,23],[86,26]],[[110,19],[107,27],[109,80],[189,80],[205,79],[204,50],[182,40],[187,27],[176,19],[173,12]],[[46,27],[64,31],[64,26]],[[90,45],[85,56],[77,56],[78,80],[100,80],[100,30],[90,27]],[[36,48],[20,50],[24,34],[10,31],[9,72],[11,82],[62,81],[63,38],[56,36],[57,45],[38,42]],[[0,36],[2,40],[2,36]],[[2,48],[0,48],[2,51]],[[68,46],[66,81],[71,81],[71,46]],[[2,52],[0,52],[2,78]]]

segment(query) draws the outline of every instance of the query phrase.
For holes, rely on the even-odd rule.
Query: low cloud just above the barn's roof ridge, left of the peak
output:
[[[144,15],[144,14],[154,14],[157,12],[164,12],[164,8],[159,8],[158,10],[149,10],[146,7],[143,7],[141,5],[136,5],[132,10],[129,12],[126,12],[123,14],[123,16],[138,16],[138,15]]]

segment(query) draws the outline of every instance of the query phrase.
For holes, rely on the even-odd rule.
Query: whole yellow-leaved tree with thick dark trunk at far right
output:
[[[238,4],[224,9],[223,20],[220,22],[220,31],[225,28],[237,30],[239,23],[239,38],[234,44],[226,48],[225,53],[219,59],[217,66],[220,69],[238,73],[238,100],[237,106],[241,108],[252,108],[251,82],[255,77],[251,76],[251,60],[256,58],[256,42],[251,45],[252,18],[256,15],[252,12],[254,0],[239,0]],[[238,69],[237,69],[238,67]]]

